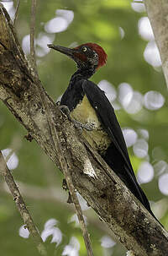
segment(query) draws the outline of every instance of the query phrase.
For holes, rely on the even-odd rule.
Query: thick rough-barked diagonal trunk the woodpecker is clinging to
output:
[[[57,166],[66,158],[75,188],[125,248],[138,256],[165,256],[167,232],[50,99],[29,68],[2,8],[0,11],[0,99]],[[54,121],[63,155],[55,147],[50,120]]]

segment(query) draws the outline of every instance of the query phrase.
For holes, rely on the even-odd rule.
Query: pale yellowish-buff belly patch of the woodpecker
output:
[[[87,131],[87,129],[84,128],[82,130],[82,135],[100,155],[103,155],[112,141],[109,139],[108,133],[103,130],[102,125],[97,118],[96,111],[87,99],[87,95],[84,95],[76,108],[72,110],[71,117],[92,128],[92,131]]]

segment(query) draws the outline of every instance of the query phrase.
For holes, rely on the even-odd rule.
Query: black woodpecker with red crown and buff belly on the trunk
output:
[[[95,43],[82,44],[72,49],[53,44],[48,46],[71,57],[77,64],[77,71],[71,76],[60,105],[69,108],[71,117],[81,123],[82,134],[87,142],[97,150],[146,210],[155,217],[134,175],[113,106],[104,91],[89,80],[98,68],[106,64],[106,52]]]

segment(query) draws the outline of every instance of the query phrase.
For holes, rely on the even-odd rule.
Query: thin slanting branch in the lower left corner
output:
[[[13,199],[15,201],[15,204],[18,208],[18,211],[20,212],[20,215],[22,216],[24,223],[26,227],[29,230],[30,235],[34,238],[34,243],[41,255],[47,255],[45,245],[41,237],[39,236],[39,232],[37,231],[34,221],[29,214],[29,210],[27,210],[26,205],[24,203],[24,199],[22,198],[18,187],[16,183],[14,182],[13,176],[11,172],[8,170],[8,166],[6,164],[6,161],[3,158],[3,154],[0,151],[0,173],[3,175],[3,178],[5,182],[8,185],[8,188],[13,195]]]

